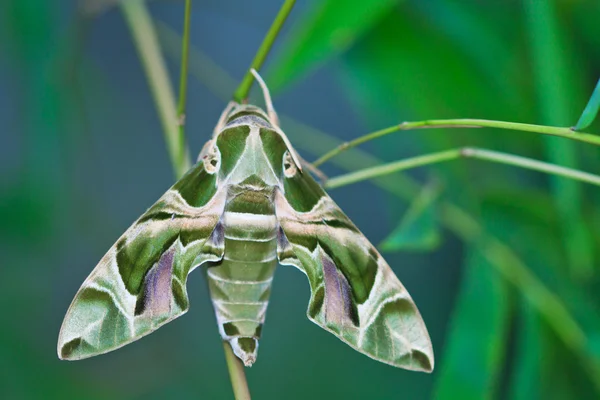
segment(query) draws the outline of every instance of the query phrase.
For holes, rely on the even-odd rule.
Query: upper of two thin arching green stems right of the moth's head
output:
[[[315,167],[323,164],[332,157],[335,157],[339,153],[356,147],[359,144],[368,142],[370,140],[389,135],[393,132],[408,131],[412,129],[439,129],[439,128],[498,128],[508,129],[523,132],[535,132],[542,135],[559,136],[576,140],[579,142],[591,143],[596,146],[600,146],[600,136],[593,135],[585,132],[575,132],[571,128],[563,128],[557,126],[545,126],[545,125],[533,125],[533,124],[522,124],[518,122],[506,122],[506,121],[492,121],[487,119],[433,119],[417,122],[403,122],[399,125],[391,126],[389,128],[381,129],[369,133],[367,135],[358,137],[350,142],[346,142],[336,147],[335,149],[325,153],[318,160],[313,162]]]

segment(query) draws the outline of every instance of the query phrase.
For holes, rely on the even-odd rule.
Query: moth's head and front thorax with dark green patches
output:
[[[281,129],[259,107],[238,104],[201,153],[205,169],[220,182],[263,182],[281,186],[284,177],[301,172],[295,150]],[[257,181],[254,178],[259,178]]]

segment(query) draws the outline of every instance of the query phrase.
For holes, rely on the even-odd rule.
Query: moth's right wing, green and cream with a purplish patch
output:
[[[427,328],[389,265],[312,177],[284,183],[278,258],[308,277],[308,318],[375,360],[431,372]]]

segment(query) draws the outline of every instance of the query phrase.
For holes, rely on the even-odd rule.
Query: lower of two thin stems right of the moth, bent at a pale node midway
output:
[[[384,164],[372,168],[365,168],[359,171],[333,177],[327,180],[325,187],[328,189],[339,188],[342,186],[349,185],[351,183],[356,183],[367,179],[373,179],[394,172],[404,171],[407,169],[421,167],[424,165],[437,164],[443,161],[456,160],[457,158],[462,157],[477,158],[480,160],[486,160],[500,164],[514,165],[525,169],[545,172],[547,174],[571,178],[574,180],[600,186],[600,176],[598,175],[593,175],[587,172],[578,171],[571,168],[561,167],[543,161],[532,160],[526,157],[500,153],[498,151],[464,147],[460,149],[440,151],[438,153],[407,158],[389,164]]]

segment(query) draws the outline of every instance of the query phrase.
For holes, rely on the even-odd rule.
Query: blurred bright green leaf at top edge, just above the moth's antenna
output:
[[[324,0],[314,2],[301,17],[267,81],[281,89],[309,69],[347,50],[399,0]]]

